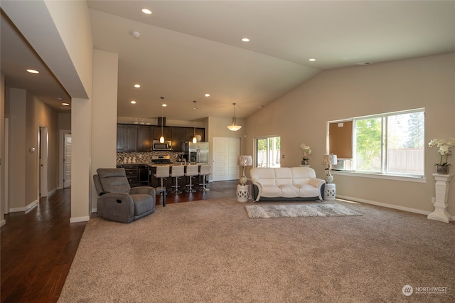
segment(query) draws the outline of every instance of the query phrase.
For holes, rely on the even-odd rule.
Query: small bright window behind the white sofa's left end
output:
[[[279,137],[256,139],[256,167],[279,167]]]

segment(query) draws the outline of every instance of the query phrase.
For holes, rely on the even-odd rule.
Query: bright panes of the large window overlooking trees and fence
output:
[[[355,171],[424,176],[424,115],[424,109],[418,109],[354,118]]]

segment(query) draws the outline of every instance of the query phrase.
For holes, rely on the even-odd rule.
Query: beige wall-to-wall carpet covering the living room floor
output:
[[[455,302],[453,223],[336,203],[363,216],[252,220],[232,198],[92,218],[59,302]]]

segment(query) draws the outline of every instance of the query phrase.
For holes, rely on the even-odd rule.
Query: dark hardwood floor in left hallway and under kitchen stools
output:
[[[167,203],[235,197],[238,181],[210,191],[168,193]],[[57,302],[87,223],[70,223],[71,191],[41,198],[28,213],[9,213],[1,227],[1,302]],[[156,207],[162,207],[156,196]],[[153,215],[151,215],[153,216]]]

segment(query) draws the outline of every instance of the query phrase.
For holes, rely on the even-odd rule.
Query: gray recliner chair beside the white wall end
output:
[[[107,220],[130,223],[155,211],[155,188],[129,186],[122,169],[97,169],[97,213]]]

